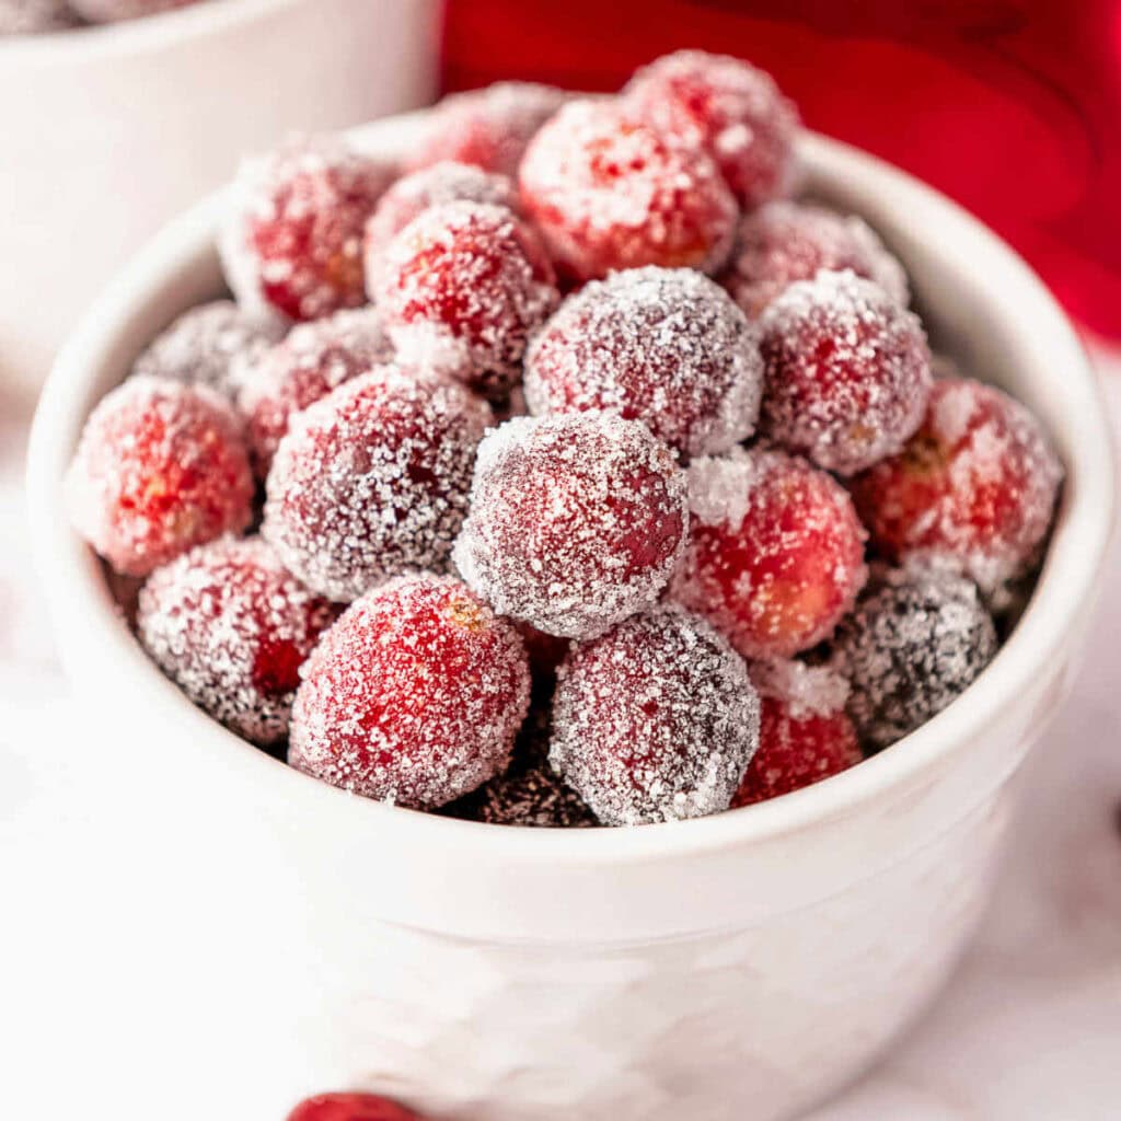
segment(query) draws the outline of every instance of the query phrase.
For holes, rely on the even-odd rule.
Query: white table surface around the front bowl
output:
[[[1121,433],[1121,355],[1097,356]],[[35,581],[21,490],[28,413],[0,387],[0,1115],[57,1121],[89,1064],[120,1064],[127,1077],[128,1056],[98,1044],[113,1015],[93,975],[112,900],[83,856],[99,827],[86,794],[102,744],[71,704]],[[1112,567],[1084,670],[1023,776],[1012,852],[979,937],[936,1007],[813,1121],[1121,1118],[1117,545]]]

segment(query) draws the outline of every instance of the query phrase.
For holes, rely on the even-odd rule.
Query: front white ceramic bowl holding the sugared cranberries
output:
[[[937,344],[1043,418],[1067,482],[1032,603],[983,677],[905,742],[748,809],[512,831],[348,796],[223,731],[119,621],[61,493],[93,404],[221,289],[220,198],[165,230],[66,346],[34,432],[34,531],[91,735],[111,744],[98,797],[158,869],[118,873],[135,906],[119,904],[114,1000],[140,1026],[130,1013],[108,1045],[142,1056],[133,1078],[175,1081],[176,1118],[210,1115],[222,1086],[242,1121],[340,1087],[474,1121],[768,1121],[852,1078],[938,990],[1082,643],[1110,447],[1075,335],[1018,257],[876,159],[813,136],[804,155],[814,192],[904,259]],[[132,1115],[129,1082],[113,1090]]]

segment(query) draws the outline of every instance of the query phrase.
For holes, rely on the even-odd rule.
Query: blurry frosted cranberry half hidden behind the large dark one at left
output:
[[[239,363],[238,405],[257,473],[268,474],[294,414],[392,355],[379,313],[360,307],[302,323],[278,346]]]

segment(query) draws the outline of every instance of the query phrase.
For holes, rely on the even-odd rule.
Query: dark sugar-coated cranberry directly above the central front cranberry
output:
[[[702,455],[751,435],[762,377],[758,341],[720,286],[651,266],[569,296],[529,348],[525,389],[536,415],[618,413]]]

